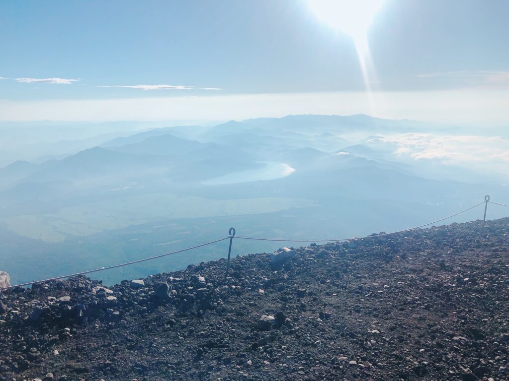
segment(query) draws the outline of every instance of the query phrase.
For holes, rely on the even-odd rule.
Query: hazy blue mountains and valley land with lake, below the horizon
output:
[[[507,194],[501,183],[468,181],[482,178],[473,168],[415,160],[380,139],[434,129],[366,115],[289,115],[60,141],[69,154],[0,168],[0,262],[31,279],[48,252],[68,270],[78,263],[69,253],[83,265],[104,252],[129,260],[216,238],[234,224],[261,236],[348,236],[419,225]],[[154,266],[143,271],[163,270]]]

